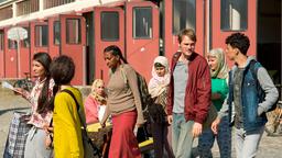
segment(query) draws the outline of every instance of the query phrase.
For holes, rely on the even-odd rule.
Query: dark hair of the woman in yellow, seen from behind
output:
[[[50,74],[55,81],[55,86],[53,88],[54,95],[50,101],[50,106],[54,109],[55,94],[57,93],[59,86],[69,83],[75,76],[74,60],[66,55],[58,56],[52,61],[50,66]]]

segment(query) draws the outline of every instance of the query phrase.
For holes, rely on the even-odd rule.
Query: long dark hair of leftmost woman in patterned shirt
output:
[[[33,60],[39,61],[44,67],[44,70],[45,70],[46,80],[39,95],[39,101],[37,101],[39,105],[36,110],[37,113],[44,113],[45,111],[52,110],[48,106],[48,86],[50,86],[50,79],[51,79],[48,68],[52,59],[47,53],[40,52],[33,55]]]

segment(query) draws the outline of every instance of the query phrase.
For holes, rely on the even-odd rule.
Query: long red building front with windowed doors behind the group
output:
[[[115,44],[149,80],[154,57],[164,55],[171,59],[178,50],[177,33],[192,27],[197,35],[196,52],[203,56],[212,48],[225,48],[225,38],[231,33],[247,34],[251,41],[248,54],[256,55],[273,70],[278,76],[275,82],[281,83],[278,35],[278,32],[281,35],[281,1],[278,0],[42,0],[39,1],[42,8],[34,7],[35,11],[30,9],[30,12],[28,8],[25,14],[24,2],[15,0],[19,16],[2,20],[0,15],[1,78],[22,77],[31,71],[33,54],[47,52],[52,57],[66,54],[74,58],[74,84],[89,84],[95,78],[107,81],[102,50]],[[3,5],[4,10],[9,3]],[[20,69],[14,42],[7,38],[7,31],[14,23],[29,30],[29,38],[20,45]],[[267,54],[267,49],[273,53]]]

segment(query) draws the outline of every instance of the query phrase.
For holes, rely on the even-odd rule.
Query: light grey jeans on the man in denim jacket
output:
[[[237,158],[254,158],[264,126],[254,131],[246,132],[243,128],[235,128],[236,156]]]

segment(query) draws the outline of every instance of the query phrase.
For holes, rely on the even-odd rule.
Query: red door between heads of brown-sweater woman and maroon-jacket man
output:
[[[126,57],[147,80],[159,49],[159,8],[150,1],[126,3]]]

